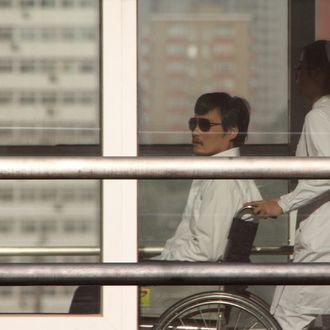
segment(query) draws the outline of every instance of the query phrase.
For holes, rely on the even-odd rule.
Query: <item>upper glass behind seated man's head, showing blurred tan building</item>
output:
[[[139,142],[189,143],[205,92],[252,104],[248,143],[286,143],[287,1],[139,1]]]

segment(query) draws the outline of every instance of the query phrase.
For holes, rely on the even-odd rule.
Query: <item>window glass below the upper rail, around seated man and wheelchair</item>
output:
[[[284,180],[257,180],[256,184],[264,198],[287,192]],[[172,237],[183,213],[190,180],[140,180],[138,194],[139,247],[152,248],[152,253],[141,253],[141,259],[148,259],[160,253],[166,240]],[[260,221],[255,246],[280,247],[288,244],[287,216]],[[149,250],[150,251],[150,250]],[[286,262],[286,255],[253,255],[253,262]],[[174,303],[188,295],[210,290],[217,286],[149,286],[140,288],[140,324],[157,317]],[[273,297],[274,287],[249,287],[268,303]],[[151,321],[152,322],[152,321]]]

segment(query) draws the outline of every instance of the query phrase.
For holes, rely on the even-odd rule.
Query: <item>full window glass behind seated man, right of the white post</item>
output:
[[[288,1],[141,0],[138,5],[141,155],[151,150],[153,155],[191,155],[187,121],[193,116],[197,98],[207,92],[228,92],[250,102],[249,144],[289,142]],[[257,180],[256,184],[264,198],[282,195],[288,189],[285,180]],[[141,251],[152,248],[157,255],[182,224],[191,181],[140,180],[138,187],[139,247]],[[196,198],[194,206],[187,207],[199,203]],[[192,219],[187,227],[195,228],[192,223],[197,217]],[[185,227],[180,228],[182,233]],[[177,240],[173,244],[181,243]],[[260,223],[255,245],[287,244],[287,216]],[[141,252],[142,259],[151,255]],[[286,261],[287,255],[253,255],[252,259]],[[153,317],[189,294],[217,289],[143,287],[140,322],[152,323]],[[271,301],[273,287],[249,289]]]

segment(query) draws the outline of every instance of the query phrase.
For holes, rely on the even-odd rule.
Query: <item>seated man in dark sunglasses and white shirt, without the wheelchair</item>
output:
[[[238,157],[250,119],[246,100],[227,93],[201,95],[189,119],[196,156]],[[193,180],[181,223],[156,260],[221,261],[236,212],[259,191],[252,180]]]

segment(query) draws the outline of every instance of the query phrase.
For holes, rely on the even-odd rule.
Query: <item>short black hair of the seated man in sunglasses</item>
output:
[[[237,127],[238,134],[233,140],[234,146],[239,147],[244,144],[250,122],[249,103],[241,97],[231,96],[224,92],[201,95],[195,104],[195,114],[205,115],[212,110],[219,111],[225,132]]]

